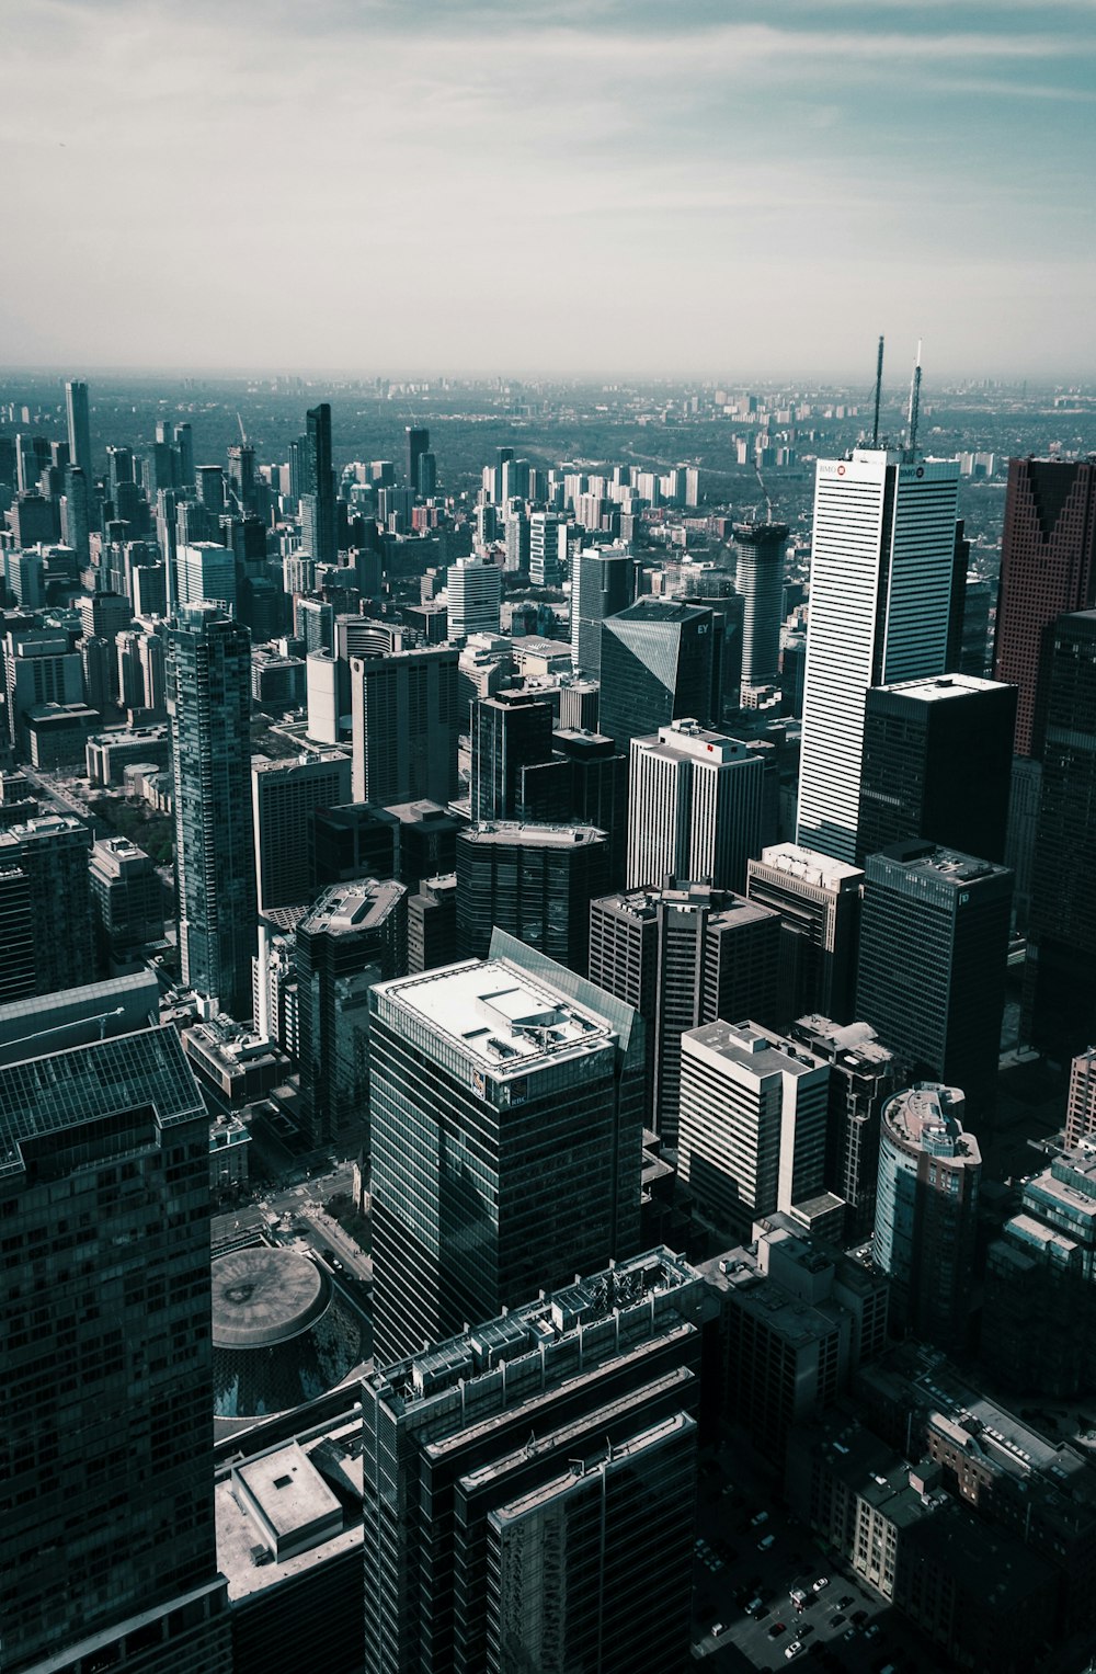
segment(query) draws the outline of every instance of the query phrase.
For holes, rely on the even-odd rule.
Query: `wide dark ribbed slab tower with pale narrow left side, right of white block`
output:
[[[457,648],[350,660],[355,802],[457,793]]]

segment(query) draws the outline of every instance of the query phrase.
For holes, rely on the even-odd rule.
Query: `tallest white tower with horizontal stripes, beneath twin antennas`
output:
[[[798,842],[852,864],[868,686],[947,665],[959,464],[818,460]]]

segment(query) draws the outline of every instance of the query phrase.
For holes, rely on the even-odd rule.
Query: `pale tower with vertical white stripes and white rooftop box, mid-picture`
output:
[[[738,738],[671,721],[633,738],[627,790],[627,887],[664,877],[745,889],[761,852],[765,763]]]

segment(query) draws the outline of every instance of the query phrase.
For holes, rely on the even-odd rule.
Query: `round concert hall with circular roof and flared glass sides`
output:
[[[254,1245],[213,1264],[218,1418],[286,1413],[333,1389],[361,1359],[361,1326],[323,1267]]]

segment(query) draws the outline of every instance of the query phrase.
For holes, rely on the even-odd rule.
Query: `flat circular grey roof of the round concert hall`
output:
[[[331,1299],[315,1261],[263,1245],[233,1250],[213,1264],[214,1349],[258,1349],[308,1331]]]

